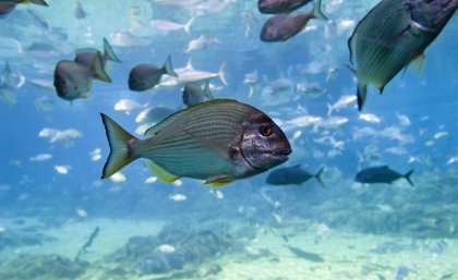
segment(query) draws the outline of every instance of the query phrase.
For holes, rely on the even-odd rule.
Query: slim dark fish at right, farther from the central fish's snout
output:
[[[399,174],[398,172],[388,168],[388,166],[383,167],[373,167],[361,170],[358,172],[354,181],[360,183],[366,184],[374,184],[374,183],[388,183],[391,184],[394,181],[405,178],[411,186],[413,186],[413,182],[410,180],[410,175],[412,175],[413,170],[410,170],[406,174]]]

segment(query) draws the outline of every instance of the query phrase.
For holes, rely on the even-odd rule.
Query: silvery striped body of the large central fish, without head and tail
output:
[[[147,132],[145,135],[150,137],[138,142],[135,154],[178,176],[243,176],[237,169],[240,162],[230,158],[229,149],[237,147],[243,122],[257,110],[240,102],[218,100],[193,106],[185,112],[160,123],[157,133]],[[249,173],[256,171],[249,166],[248,169]]]

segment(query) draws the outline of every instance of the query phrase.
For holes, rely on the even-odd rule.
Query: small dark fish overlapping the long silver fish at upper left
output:
[[[170,56],[167,57],[162,68],[153,64],[138,64],[129,74],[129,88],[135,92],[143,92],[155,87],[164,74],[178,77],[171,65]]]

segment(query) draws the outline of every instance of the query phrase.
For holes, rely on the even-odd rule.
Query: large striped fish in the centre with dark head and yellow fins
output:
[[[274,121],[245,104],[214,99],[178,111],[137,139],[101,114],[110,155],[101,178],[135,159],[147,158],[164,181],[181,176],[224,185],[249,178],[288,160],[291,147]]]

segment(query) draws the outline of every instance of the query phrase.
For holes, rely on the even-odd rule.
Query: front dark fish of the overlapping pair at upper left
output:
[[[103,68],[100,53],[98,52],[97,56],[94,56],[88,68],[74,61],[59,61],[55,70],[53,85],[60,98],[72,102],[74,99],[87,97],[93,78],[111,83]]]

